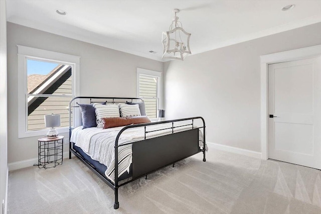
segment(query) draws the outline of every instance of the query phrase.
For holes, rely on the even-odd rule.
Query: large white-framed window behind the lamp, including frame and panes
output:
[[[18,46],[18,72],[19,138],[46,134],[44,115],[52,113],[61,117],[58,132],[68,132],[79,57]]]

